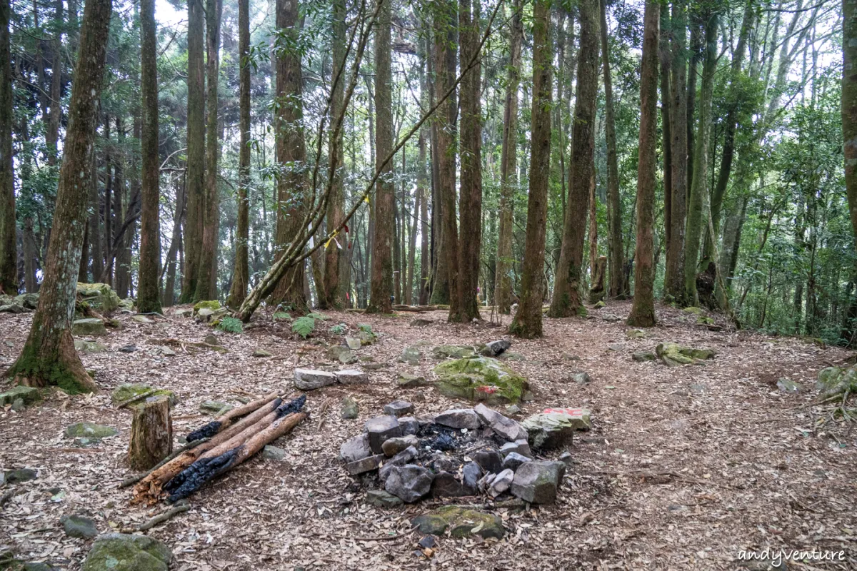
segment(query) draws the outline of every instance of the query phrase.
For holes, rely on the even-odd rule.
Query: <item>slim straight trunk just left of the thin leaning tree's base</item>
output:
[[[250,282],[248,241],[250,239],[250,5],[238,0],[238,121],[241,130],[238,149],[238,220],[235,231],[235,271],[226,305],[237,309],[247,296]]]

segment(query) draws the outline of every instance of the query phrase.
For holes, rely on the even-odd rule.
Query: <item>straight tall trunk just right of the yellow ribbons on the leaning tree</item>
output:
[[[375,240],[372,243],[372,276],[369,313],[391,313],[393,304],[393,241],[396,207],[393,162],[382,165],[393,151],[393,74],[390,51],[389,0],[383,0],[375,28]]]

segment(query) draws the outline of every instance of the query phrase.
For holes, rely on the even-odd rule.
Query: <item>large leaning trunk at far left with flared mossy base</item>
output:
[[[20,384],[55,384],[69,393],[98,391],[75,351],[70,327],[87,217],[88,186],[81,184],[81,173],[89,171],[95,149],[111,12],[111,0],[88,0],[84,9],[45,281],[30,335],[7,371]]]

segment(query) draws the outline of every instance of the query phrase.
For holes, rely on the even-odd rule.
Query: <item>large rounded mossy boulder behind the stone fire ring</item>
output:
[[[440,363],[434,367],[441,395],[453,399],[506,404],[521,400],[529,390],[527,379],[512,367],[492,357],[470,357]]]

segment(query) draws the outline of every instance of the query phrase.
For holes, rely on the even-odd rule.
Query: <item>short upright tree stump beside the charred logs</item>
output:
[[[172,452],[170,400],[153,397],[133,409],[128,460],[133,469],[148,470]]]

